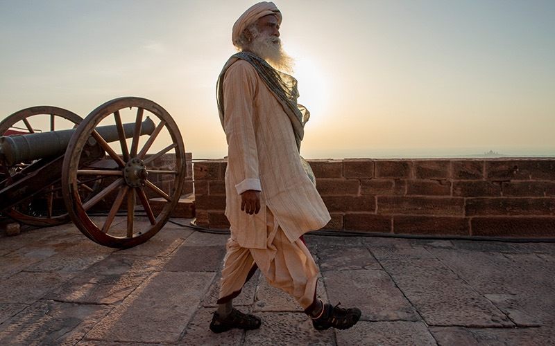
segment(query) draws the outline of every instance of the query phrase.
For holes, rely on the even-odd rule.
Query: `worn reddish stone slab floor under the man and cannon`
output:
[[[318,295],[360,322],[316,331],[255,275],[235,302],[262,327],[212,334],[226,239],[169,223],[115,250],[73,224],[4,225],[0,345],[555,345],[554,243],[310,235]]]

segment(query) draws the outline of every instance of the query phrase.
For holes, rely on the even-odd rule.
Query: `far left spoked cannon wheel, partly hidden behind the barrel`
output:
[[[67,109],[51,106],[30,107],[17,111],[2,120],[0,122],[0,136],[71,129],[76,127],[81,120],[83,118]],[[15,172],[20,172],[26,166],[28,165],[22,163],[10,169],[3,167],[3,176],[1,176],[0,181],[6,179],[6,183],[8,183],[8,176],[11,177]],[[0,188],[3,187],[1,186]],[[65,211],[61,214],[56,214],[56,210],[53,210],[53,197],[58,190],[60,190],[60,184],[53,183],[40,193],[41,200],[46,203],[46,206],[41,206],[40,210],[34,206],[37,201],[37,196],[35,196],[3,212],[12,217],[12,219],[16,219],[24,224],[35,226],[62,224],[69,221],[69,215]]]

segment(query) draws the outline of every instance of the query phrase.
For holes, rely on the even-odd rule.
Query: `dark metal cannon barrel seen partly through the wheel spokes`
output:
[[[135,123],[123,124],[126,138],[133,137],[134,129]],[[150,135],[154,129],[154,122],[146,118],[141,125],[141,135]],[[116,125],[96,127],[96,131],[108,143],[119,140]],[[0,158],[3,158],[8,166],[13,166],[17,163],[64,154],[74,132],[75,129],[67,129],[0,137]]]

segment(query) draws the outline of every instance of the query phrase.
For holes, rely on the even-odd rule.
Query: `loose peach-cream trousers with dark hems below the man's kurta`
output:
[[[289,242],[270,209],[266,212],[265,249],[242,248],[233,235],[228,239],[218,304],[237,297],[258,267],[269,284],[292,295],[309,313],[316,307],[316,263],[304,239]]]

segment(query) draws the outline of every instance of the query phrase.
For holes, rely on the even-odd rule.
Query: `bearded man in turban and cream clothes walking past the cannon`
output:
[[[257,268],[272,286],[296,298],[316,329],[350,328],[361,315],[357,308],[316,298],[318,268],[302,235],[325,226],[330,215],[299,156],[309,113],[297,104],[297,81],[274,69],[291,66],[281,48],[281,22],[271,2],[246,10],[232,31],[239,53],[230,57],[217,83],[228,140],[225,215],[231,237],[210,324],[216,333],[260,327],[259,318],[232,305]]]

